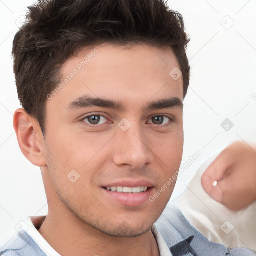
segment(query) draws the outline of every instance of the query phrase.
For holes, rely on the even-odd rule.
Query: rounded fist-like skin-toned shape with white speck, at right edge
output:
[[[232,143],[205,170],[201,183],[210,197],[231,210],[248,206],[256,200],[256,147]]]

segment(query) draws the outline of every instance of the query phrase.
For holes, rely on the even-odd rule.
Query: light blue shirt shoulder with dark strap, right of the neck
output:
[[[223,244],[209,241],[189,223],[173,202],[167,204],[155,226],[174,255],[184,255],[184,249],[197,256],[256,255],[249,249],[228,249]],[[177,251],[182,253],[177,254]]]

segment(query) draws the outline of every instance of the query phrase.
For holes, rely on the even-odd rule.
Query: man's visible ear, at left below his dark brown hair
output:
[[[45,166],[44,137],[38,121],[23,108],[18,108],[14,113],[13,126],[24,156],[36,166]]]

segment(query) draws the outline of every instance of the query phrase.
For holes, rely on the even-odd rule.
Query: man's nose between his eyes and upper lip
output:
[[[114,143],[113,161],[118,166],[140,169],[153,160],[150,141],[139,125],[132,124],[126,131],[117,129]]]

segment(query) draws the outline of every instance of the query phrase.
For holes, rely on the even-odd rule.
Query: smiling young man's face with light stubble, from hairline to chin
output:
[[[175,185],[167,181],[182,157],[183,80],[169,75],[178,67],[171,49],[95,48],[63,65],[65,85],[46,101],[46,171],[75,217],[103,233],[137,236],[160,216]]]

